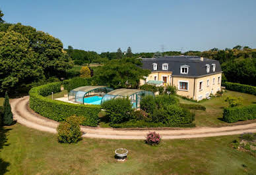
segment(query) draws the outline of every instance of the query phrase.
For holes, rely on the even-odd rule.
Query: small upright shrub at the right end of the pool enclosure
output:
[[[156,100],[152,95],[146,95],[141,99],[141,109],[152,114],[154,109],[156,109]]]

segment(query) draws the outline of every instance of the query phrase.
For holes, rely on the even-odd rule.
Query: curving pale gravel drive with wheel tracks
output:
[[[57,133],[56,128],[58,122],[49,120],[28,107],[29,96],[12,99],[11,107],[15,120],[18,123],[41,130],[44,132]],[[162,139],[181,139],[195,137],[213,137],[242,134],[244,132],[256,132],[256,123],[243,124],[237,126],[224,126],[220,128],[197,127],[184,129],[165,129],[165,130],[129,130],[129,129],[114,129],[114,128],[99,128],[81,126],[84,134],[82,137],[94,137],[105,139],[144,139],[148,132],[156,131]]]

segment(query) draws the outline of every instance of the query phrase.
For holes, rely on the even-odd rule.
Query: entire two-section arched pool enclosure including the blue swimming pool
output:
[[[141,99],[145,95],[152,95],[152,91],[141,89],[115,89],[107,86],[82,86],[69,91],[69,101],[81,104],[100,105],[104,101],[115,98],[128,97],[134,109],[141,107]]]

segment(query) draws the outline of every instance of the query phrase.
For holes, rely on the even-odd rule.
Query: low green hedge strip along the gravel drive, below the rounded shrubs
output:
[[[144,120],[130,120],[121,124],[110,124],[113,128],[161,128],[161,127],[181,127],[193,128],[195,123],[190,124],[162,124],[156,122],[146,122]]]

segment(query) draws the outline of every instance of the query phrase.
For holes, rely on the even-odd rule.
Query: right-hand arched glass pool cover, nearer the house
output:
[[[154,93],[152,93],[152,91],[144,91],[141,89],[115,89],[104,95],[102,103],[110,99],[128,97],[131,100],[131,104],[133,104],[133,108],[138,109],[141,107],[141,99],[145,95],[154,96]]]

